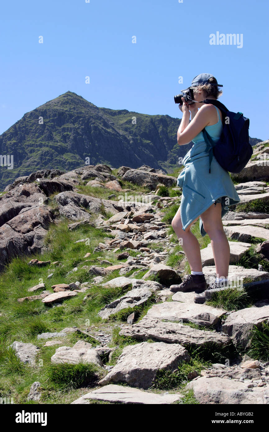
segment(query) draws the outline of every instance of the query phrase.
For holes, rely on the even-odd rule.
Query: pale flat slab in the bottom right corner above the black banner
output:
[[[235,381],[225,378],[199,377],[190,381],[186,388],[192,389],[199,403],[261,404],[269,403],[269,386],[248,388],[251,381]]]

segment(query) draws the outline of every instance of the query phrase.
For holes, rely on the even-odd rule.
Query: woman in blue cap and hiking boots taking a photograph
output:
[[[183,116],[177,131],[180,146],[193,141],[194,145],[183,159],[184,169],[177,178],[177,186],[182,187],[180,207],[172,220],[172,227],[181,240],[182,248],[190,264],[191,274],[180,285],[172,285],[172,292],[203,292],[194,297],[196,303],[205,301],[206,280],[202,269],[200,247],[197,238],[190,231],[191,225],[200,218],[201,235],[206,233],[211,239],[216,267],[216,279],[208,289],[228,286],[230,246],[223,231],[222,217],[228,206],[240,202],[228,171],[225,171],[212,158],[209,170],[209,149],[203,139],[202,130],[217,142],[222,133],[222,112],[212,104],[197,103],[204,99],[217,99],[222,91],[218,82],[208,73],[197,75],[190,89],[193,89],[193,104],[179,106]],[[198,111],[198,106],[201,107]],[[191,121],[190,121],[191,114]]]

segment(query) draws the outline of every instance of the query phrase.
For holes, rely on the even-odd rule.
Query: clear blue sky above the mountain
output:
[[[14,0],[0,11],[0,133],[68,90],[181,118],[173,96],[205,72],[223,84],[220,101],[250,118],[250,136],[269,138],[266,1]],[[209,44],[217,32],[243,35],[242,48]]]

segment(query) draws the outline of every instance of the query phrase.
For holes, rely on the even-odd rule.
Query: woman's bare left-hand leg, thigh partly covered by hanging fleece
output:
[[[177,238],[182,238],[180,244],[182,245],[187,260],[190,264],[191,271],[203,271],[200,245],[195,235],[190,231],[190,227],[197,219],[199,219],[199,216],[189,226],[187,226],[185,231],[183,231],[179,207],[171,223]]]

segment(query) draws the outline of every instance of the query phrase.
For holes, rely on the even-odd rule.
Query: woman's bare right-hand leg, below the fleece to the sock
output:
[[[230,262],[230,245],[228,243],[222,224],[222,204],[210,206],[201,214],[203,226],[211,238],[211,246],[218,278],[228,277]]]

